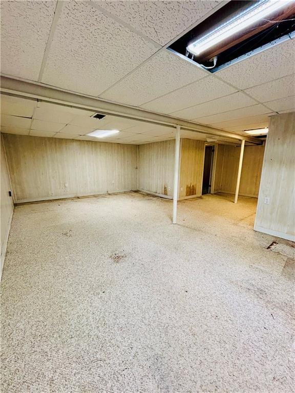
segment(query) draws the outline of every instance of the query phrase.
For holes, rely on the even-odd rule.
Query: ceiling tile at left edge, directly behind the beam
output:
[[[32,117],[37,100],[1,95],[1,113],[5,115]]]

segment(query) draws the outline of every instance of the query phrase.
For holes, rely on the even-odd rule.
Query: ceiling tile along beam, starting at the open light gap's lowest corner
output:
[[[170,114],[188,106],[227,96],[236,91],[215,77],[208,76],[141,106],[150,111]]]

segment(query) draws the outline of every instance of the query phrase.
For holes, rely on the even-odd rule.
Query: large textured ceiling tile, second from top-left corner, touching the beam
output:
[[[97,96],[158,47],[84,2],[64,2],[42,82]]]

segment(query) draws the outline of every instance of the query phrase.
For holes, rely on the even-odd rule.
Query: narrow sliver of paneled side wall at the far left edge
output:
[[[12,191],[9,173],[6,163],[5,151],[2,136],[0,136],[1,145],[1,267],[0,279],[5,260],[7,241],[10,231],[10,224],[13,215],[13,198],[9,196],[9,191]]]

